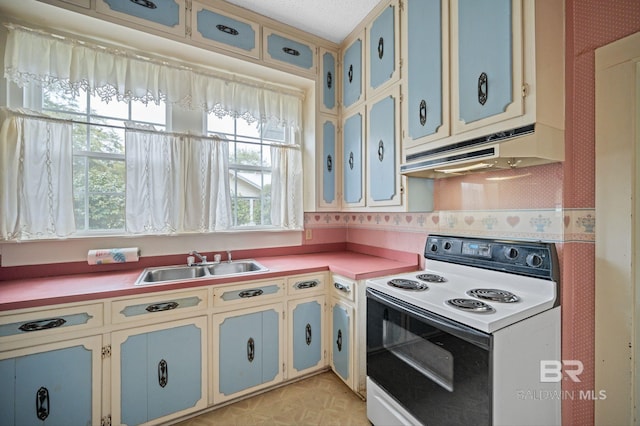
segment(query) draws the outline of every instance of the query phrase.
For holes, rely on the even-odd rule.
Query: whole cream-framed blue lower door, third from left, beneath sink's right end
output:
[[[283,380],[282,303],[213,316],[213,401]]]

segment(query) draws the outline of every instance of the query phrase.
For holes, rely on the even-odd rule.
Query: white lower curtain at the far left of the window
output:
[[[3,240],[75,232],[71,124],[0,110],[0,233]]]

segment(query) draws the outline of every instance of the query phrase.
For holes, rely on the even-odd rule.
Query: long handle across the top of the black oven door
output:
[[[407,313],[411,316],[418,318],[420,321],[425,322],[439,330],[452,334],[469,343],[472,343],[480,348],[489,350],[491,349],[491,335],[483,333],[464,324],[457,323],[448,318],[441,317],[437,314],[429,312],[425,309],[411,305],[403,300],[396,299],[395,297],[388,296],[379,290],[373,288],[367,288],[367,297],[387,305],[400,312]]]

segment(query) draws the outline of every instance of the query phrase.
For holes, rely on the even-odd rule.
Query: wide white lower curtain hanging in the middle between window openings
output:
[[[126,229],[211,232],[231,225],[229,154],[220,139],[126,132]]]

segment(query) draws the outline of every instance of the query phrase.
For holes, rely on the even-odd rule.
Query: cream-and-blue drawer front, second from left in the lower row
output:
[[[140,321],[179,311],[181,315],[207,308],[207,290],[156,294],[136,299],[116,300],[111,304],[113,323]]]

